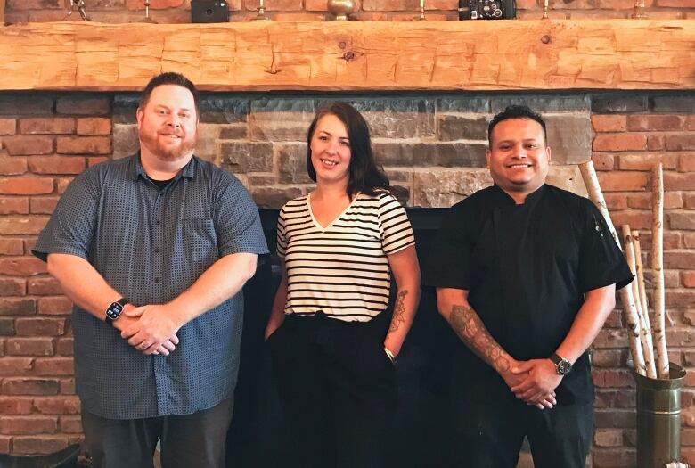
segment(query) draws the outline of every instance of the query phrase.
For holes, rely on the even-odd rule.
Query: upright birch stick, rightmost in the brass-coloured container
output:
[[[657,374],[667,379],[666,308],[664,292],[664,172],[661,163],[651,173],[651,273],[654,276],[654,335],[656,336]]]

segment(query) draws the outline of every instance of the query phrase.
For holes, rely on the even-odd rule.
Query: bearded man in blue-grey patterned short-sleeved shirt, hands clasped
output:
[[[140,151],[87,169],[33,250],[75,303],[75,381],[95,467],[222,467],[241,287],[266,241],[232,174],[196,158],[199,97],[163,73],[137,109]]]

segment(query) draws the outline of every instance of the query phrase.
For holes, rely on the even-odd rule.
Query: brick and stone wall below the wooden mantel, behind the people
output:
[[[338,96],[337,96],[338,97]],[[695,464],[695,94],[342,96],[372,127],[377,156],[410,206],[448,206],[490,183],[485,122],[509,103],[543,111],[556,161],[593,157],[614,222],[650,248],[650,167],[665,168],[667,338],[689,373],[683,455]],[[0,94],[0,452],[41,453],[80,436],[70,301],[29,255],[72,177],[135,151],[134,94]],[[259,205],[306,193],[305,132],[325,96],[205,94],[198,154],[233,171]],[[554,180],[581,192],[574,168]],[[634,381],[623,320],[595,342],[596,467],[633,466]]]

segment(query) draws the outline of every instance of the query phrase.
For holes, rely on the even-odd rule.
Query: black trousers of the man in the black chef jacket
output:
[[[593,436],[593,405],[559,405],[537,409],[511,390],[463,391],[454,404],[449,440],[454,465],[515,468],[524,437],[536,468],[584,468]]]

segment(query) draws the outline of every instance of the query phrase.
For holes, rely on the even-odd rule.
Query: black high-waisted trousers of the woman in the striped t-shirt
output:
[[[380,468],[396,408],[396,376],[384,353],[390,316],[346,323],[287,316],[267,341],[292,464]]]

